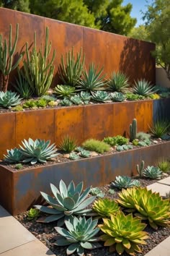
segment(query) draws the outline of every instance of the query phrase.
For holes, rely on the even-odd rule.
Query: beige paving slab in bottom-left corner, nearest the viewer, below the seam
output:
[[[1,256],[55,256],[42,242],[35,240],[1,254]]]

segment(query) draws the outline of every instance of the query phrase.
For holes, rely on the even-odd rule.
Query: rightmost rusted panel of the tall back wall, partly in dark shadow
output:
[[[100,64],[107,76],[121,70],[131,82],[145,78],[154,84],[155,59],[151,56],[154,49],[154,43],[84,27],[86,64],[91,61]]]

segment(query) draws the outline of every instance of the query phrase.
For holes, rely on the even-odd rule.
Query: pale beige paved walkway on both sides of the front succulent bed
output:
[[[170,177],[148,186],[148,189],[160,192],[162,196],[170,191]],[[146,256],[169,256],[170,236]],[[42,242],[24,228],[0,205],[0,255],[1,256],[55,256]]]

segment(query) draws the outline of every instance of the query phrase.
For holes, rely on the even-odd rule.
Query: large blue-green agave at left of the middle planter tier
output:
[[[50,158],[54,158],[56,155],[55,145],[50,145],[50,140],[32,140],[28,139],[22,142],[23,146],[19,145],[22,155],[24,155],[24,163],[35,164],[37,162],[46,163]]]

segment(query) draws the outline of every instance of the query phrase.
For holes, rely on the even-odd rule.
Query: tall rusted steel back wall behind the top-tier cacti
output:
[[[0,8],[0,33],[8,38],[9,24],[12,24],[12,34],[15,35],[17,23],[19,23],[18,53],[25,49],[26,41],[31,46],[35,30],[37,47],[40,43],[44,45],[45,27],[49,27],[52,41],[50,56],[54,48],[57,52],[53,85],[59,82],[58,66],[61,62],[61,54],[65,54],[72,47],[74,47],[75,54],[80,51],[80,48],[83,49],[86,55],[86,66],[93,61],[100,67],[104,67],[107,76],[112,71],[121,70],[128,74],[131,81],[146,78],[153,84],[155,83],[155,60],[151,56],[151,51],[155,49],[153,43]]]

